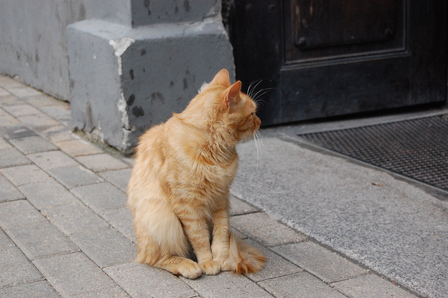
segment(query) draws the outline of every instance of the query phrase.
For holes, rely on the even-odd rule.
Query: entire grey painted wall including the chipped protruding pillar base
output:
[[[71,103],[72,127],[122,150],[226,68],[220,0],[0,0],[0,73]]]

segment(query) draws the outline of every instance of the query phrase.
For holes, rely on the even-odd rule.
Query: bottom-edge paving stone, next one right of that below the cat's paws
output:
[[[260,281],[258,285],[277,298],[346,298],[307,272]]]

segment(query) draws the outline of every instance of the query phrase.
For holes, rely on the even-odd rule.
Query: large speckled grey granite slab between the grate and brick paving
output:
[[[448,297],[448,202],[342,157],[276,138],[264,147],[257,166],[254,144],[238,146],[235,195],[422,295]]]

